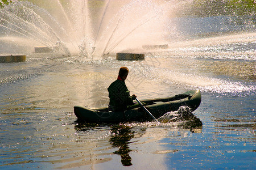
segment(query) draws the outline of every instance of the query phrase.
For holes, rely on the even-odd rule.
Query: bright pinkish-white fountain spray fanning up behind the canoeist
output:
[[[65,54],[101,56],[163,40],[165,14],[174,4],[154,0],[12,1],[0,9],[0,29],[5,32],[0,39],[20,37],[36,41],[36,46],[57,46]]]

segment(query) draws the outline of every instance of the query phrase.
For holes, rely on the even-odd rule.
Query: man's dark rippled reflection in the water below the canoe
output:
[[[113,152],[114,154],[118,154],[121,156],[121,162],[124,166],[130,166],[131,157],[129,152],[129,142],[134,137],[134,131],[130,130],[129,126],[112,126],[111,134],[112,138],[110,138],[109,142],[114,147],[119,147],[118,151]]]

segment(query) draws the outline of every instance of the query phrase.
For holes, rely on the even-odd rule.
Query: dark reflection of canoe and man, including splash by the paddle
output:
[[[187,112],[186,112],[187,111]],[[152,137],[152,140],[159,141],[172,130],[187,129],[192,133],[201,133],[203,124],[199,118],[194,116],[187,109],[180,109],[176,112],[168,112],[161,119],[161,124],[155,122],[127,122],[126,124],[91,124],[88,122],[76,121],[75,130],[82,132],[82,136],[88,136],[88,132],[93,132],[90,135],[101,135],[100,131],[105,131],[108,134],[109,143],[114,148],[118,148],[113,153],[121,156],[121,163],[123,166],[131,166],[131,156],[129,153],[132,151],[131,143],[135,142],[132,139],[137,138],[140,141],[144,137]],[[160,129],[160,133],[159,130]],[[107,132],[108,131],[108,132]],[[148,132],[146,132],[148,131]],[[165,133],[163,133],[163,131]],[[179,130],[178,130],[179,131]],[[184,133],[187,137],[187,133]],[[90,137],[94,138],[94,137]],[[80,139],[82,142],[82,139]],[[138,143],[137,143],[138,144]],[[100,145],[99,143],[97,146]],[[131,145],[131,146],[130,146]],[[156,151],[159,152],[159,151]],[[108,153],[109,154],[109,153]]]

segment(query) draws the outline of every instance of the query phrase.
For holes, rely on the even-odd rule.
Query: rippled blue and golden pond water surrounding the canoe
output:
[[[185,41],[143,61],[30,54],[0,63],[0,168],[255,169],[255,40]],[[201,105],[159,125],[77,122],[74,105],[108,104],[120,66],[138,99],[200,89]]]

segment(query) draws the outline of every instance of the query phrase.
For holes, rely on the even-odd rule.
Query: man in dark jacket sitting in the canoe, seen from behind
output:
[[[126,87],[125,80],[129,73],[127,67],[121,67],[119,69],[117,80],[110,84],[109,91],[109,111],[118,112],[125,111],[130,105],[134,105],[133,100],[137,96],[130,96],[130,91]]]

